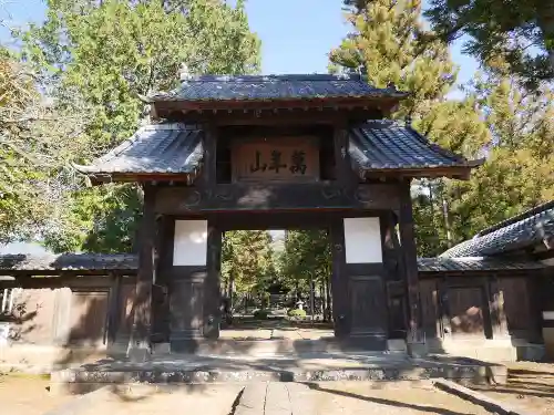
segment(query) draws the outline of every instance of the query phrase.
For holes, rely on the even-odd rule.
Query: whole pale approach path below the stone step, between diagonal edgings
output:
[[[86,395],[85,395],[86,396]],[[80,401],[81,400],[81,401]],[[75,398],[45,415],[490,415],[430,383],[365,382],[240,385],[113,386]]]

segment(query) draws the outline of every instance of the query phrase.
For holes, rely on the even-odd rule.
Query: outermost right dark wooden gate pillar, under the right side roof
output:
[[[419,311],[419,281],[418,281],[418,253],[416,250],[416,232],[413,228],[413,210],[410,194],[410,180],[400,183],[400,211],[399,230],[404,263],[404,276],[408,297],[408,342],[421,342],[420,311]]]

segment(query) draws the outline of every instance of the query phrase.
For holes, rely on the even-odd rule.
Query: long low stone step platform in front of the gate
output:
[[[126,383],[225,383],[322,381],[422,381],[448,378],[462,384],[506,382],[500,364],[464,357],[410,359],[406,355],[324,354],[310,359],[238,356],[157,359],[144,363],[99,361],[51,374],[53,387],[94,390]]]

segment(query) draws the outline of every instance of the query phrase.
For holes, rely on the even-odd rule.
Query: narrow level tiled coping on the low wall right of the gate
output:
[[[540,261],[500,258],[418,258],[419,272],[525,271],[543,268],[545,268],[545,264]]]

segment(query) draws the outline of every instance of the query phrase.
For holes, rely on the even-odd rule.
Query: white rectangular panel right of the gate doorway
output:
[[[345,219],[347,263],[382,262],[379,218]]]

